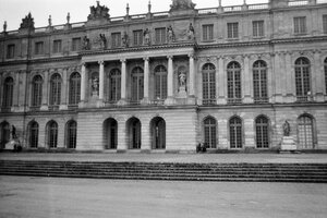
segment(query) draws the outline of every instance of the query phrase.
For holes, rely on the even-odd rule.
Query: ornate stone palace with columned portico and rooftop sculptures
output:
[[[1,147],[194,152],[327,149],[327,1],[274,0],[0,35]],[[14,132],[14,134],[12,134]]]

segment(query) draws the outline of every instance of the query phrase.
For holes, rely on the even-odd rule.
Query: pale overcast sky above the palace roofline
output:
[[[150,0],[152,12],[168,11],[171,0]],[[268,0],[246,0],[246,3],[265,3]],[[193,0],[196,9],[216,8],[218,0]],[[109,14],[113,16],[125,15],[126,3],[130,4],[130,14],[147,13],[148,0],[100,0],[101,5],[109,8]],[[241,5],[243,0],[222,0],[222,5]],[[22,19],[28,12],[34,17],[35,27],[48,25],[51,14],[52,25],[66,23],[66,14],[71,14],[71,23],[84,22],[89,14],[89,7],[96,5],[96,0],[0,0],[0,32],[7,21],[7,31],[20,28]]]

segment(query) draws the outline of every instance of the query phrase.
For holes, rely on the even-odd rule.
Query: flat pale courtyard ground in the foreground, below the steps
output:
[[[0,177],[0,217],[325,218],[327,184]]]

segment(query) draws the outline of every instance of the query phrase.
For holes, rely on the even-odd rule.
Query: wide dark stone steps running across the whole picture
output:
[[[173,164],[0,160],[0,174],[126,180],[327,182],[327,164]]]

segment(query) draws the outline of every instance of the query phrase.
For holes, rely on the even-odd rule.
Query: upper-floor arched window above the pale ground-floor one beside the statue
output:
[[[295,61],[295,86],[298,100],[307,101],[307,97],[311,96],[311,84],[310,61],[306,58],[299,58]]]

